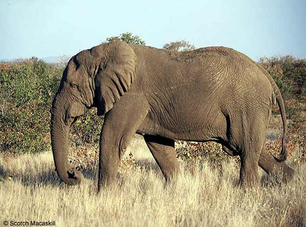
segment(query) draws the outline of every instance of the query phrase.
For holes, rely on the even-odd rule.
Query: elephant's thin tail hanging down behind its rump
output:
[[[273,89],[272,102],[273,102],[273,104],[276,104],[276,101],[277,101],[279,110],[281,111],[281,116],[282,116],[282,121],[283,121],[281,158],[280,159],[278,159],[276,157],[274,157],[274,158],[279,162],[285,161],[287,159],[287,155],[288,155],[287,150],[285,148],[285,139],[286,139],[286,136],[287,136],[288,127],[287,127],[287,118],[286,118],[284,100],[283,100],[281,91],[279,91],[279,89],[277,87],[277,84],[275,83],[275,81],[273,80],[271,75],[260,64],[257,64],[257,65],[260,68],[260,70],[266,75],[268,80],[270,81],[272,89]]]

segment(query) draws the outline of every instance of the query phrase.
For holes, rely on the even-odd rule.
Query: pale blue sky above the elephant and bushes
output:
[[[0,0],[0,59],[76,54],[132,32],[146,45],[186,39],[253,60],[306,58],[306,1]]]

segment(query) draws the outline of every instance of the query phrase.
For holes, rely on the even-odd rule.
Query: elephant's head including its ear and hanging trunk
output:
[[[57,173],[69,185],[79,184],[79,171],[68,171],[68,134],[73,122],[96,106],[104,115],[130,89],[135,79],[136,55],[122,41],[83,50],[73,56],[51,108],[51,140]]]

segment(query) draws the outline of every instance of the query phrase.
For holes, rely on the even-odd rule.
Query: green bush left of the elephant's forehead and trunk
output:
[[[49,146],[49,109],[62,69],[32,58],[0,64],[0,150],[35,153]]]

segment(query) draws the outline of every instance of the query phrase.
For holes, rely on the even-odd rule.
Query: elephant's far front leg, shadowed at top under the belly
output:
[[[166,181],[174,178],[179,173],[174,140],[153,135],[144,135],[144,140],[161,168]]]

